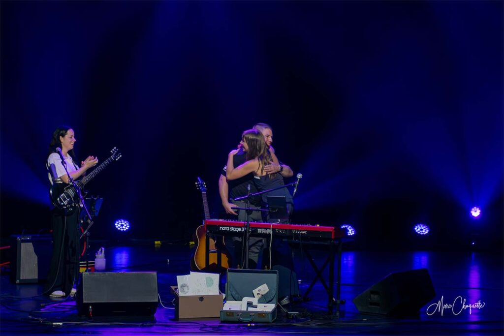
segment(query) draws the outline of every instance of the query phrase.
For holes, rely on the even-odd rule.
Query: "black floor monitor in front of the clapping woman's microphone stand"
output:
[[[156,272],[83,273],[77,288],[79,315],[154,315]]]

